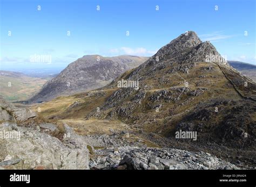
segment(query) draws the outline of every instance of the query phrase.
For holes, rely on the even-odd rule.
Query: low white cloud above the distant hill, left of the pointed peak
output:
[[[155,54],[156,51],[150,51],[143,47],[130,48],[130,47],[120,47],[110,49],[110,53],[126,54],[126,55],[137,55],[137,56],[151,56]]]

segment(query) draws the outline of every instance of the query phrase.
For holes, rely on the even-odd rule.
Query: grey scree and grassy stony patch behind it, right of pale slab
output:
[[[242,169],[206,153],[145,145],[131,141],[128,133],[86,135],[91,145],[90,169]]]

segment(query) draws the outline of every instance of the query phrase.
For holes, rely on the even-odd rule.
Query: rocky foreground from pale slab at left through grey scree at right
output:
[[[35,124],[0,125],[1,132],[20,133],[0,139],[0,169],[243,169],[202,151],[158,148],[129,132],[77,135],[66,124]]]

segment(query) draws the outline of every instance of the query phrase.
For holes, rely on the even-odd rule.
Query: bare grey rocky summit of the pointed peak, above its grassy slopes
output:
[[[220,62],[228,65],[211,42],[202,42],[195,32],[187,31],[161,47],[149,60],[134,70],[131,76],[145,69],[147,73],[152,73],[156,69],[171,67],[172,63],[178,63],[180,67],[184,64],[182,69],[187,72],[190,66],[193,66],[191,62]]]

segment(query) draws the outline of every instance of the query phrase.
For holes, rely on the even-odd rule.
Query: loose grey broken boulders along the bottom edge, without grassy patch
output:
[[[131,146],[97,149],[89,166],[91,169],[240,169],[209,153]]]

